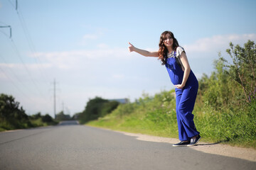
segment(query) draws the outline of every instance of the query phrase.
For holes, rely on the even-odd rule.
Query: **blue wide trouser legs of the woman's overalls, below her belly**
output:
[[[175,89],[176,115],[178,122],[178,138],[181,141],[190,141],[191,137],[199,135],[193,122],[193,108],[196,102],[198,86],[185,86],[183,89]]]

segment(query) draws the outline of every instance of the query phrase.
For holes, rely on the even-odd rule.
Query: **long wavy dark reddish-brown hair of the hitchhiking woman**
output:
[[[166,58],[167,58],[168,50],[167,50],[167,47],[164,45],[164,37],[168,33],[171,35],[171,38],[174,39],[174,43],[173,43],[172,48],[174,50],[176,50],[176,48],[179,46],[178,41],[176,40],[176,38],[174,38],[174,33],[171,33],[171,31],[169,31],[169,30],[166,30],[166,31],[164,31],[164,33],[161,33],[160,41],[159,41],[158,55],[159,55],[159,60],[161,60],[162,65],[166,64]]]

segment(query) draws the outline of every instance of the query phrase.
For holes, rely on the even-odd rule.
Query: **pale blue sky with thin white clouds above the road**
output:
[[[159,60],[128,52],[128,41],[158,50],[171,30],[200,79],[229,42],[256,40],[256,1],[0,0],[0,93],[29,115],[73,115],[89,98],[129,98],[174,89]]]

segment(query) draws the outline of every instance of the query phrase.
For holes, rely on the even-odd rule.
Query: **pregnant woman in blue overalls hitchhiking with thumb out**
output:
[[[145,57],[159,57],[166,66],[171,82],[176,87],[176,115],[178,122],[178,137],[181,142],[174,147],[194,146],[201,139],[193,122],[193,107],[196,102],[198,81],[191,71],[188,58],[183,47],[178,45],[171,31],[161,34],[158,52],[149,52],[134,47],[129,42],[129,52],[137,52]]]

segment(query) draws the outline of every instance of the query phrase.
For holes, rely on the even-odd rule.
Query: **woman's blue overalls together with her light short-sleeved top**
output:
[[[181,65],[176,61],[183,52],[182,47],[177,47],[171,57],[166,59],[166,69],[171,78],[171,82],[181,84],[183,80],[183,70]],[[190,141],[191,137],[199,135],[193,122],[193,107],[196,102],[196,95],[198,92],[198,81],[192,70],[186,81],[183,89],[175,89],[176,92],[176,115],[178,122],[178,138],[181,141]]]

